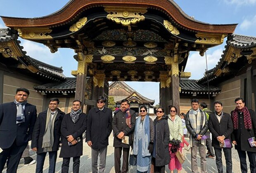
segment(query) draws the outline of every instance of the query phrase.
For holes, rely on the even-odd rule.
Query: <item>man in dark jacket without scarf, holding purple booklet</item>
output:
[[[216,166],[218,173],[223,173],[222,153],[223,149],[226,160],[226,172],[232,173],[232,157],[231,157],[231,138],[233,131],[233,123],[230,115],[222,111],[223,106],[219,101],[214,102],[215,112],[209,116],[209,130],[212,133],[212,146],[216,156]],[[230,144],[230,147],[224,147],[224,140]]]

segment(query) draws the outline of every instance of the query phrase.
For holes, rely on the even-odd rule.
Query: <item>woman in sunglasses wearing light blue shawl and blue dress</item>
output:
[[[140,107],[140,117],[136,119],[133,154],[137,155],[137,173],[149,172],[153,151],[154,125],[147,115],[147,108]]]

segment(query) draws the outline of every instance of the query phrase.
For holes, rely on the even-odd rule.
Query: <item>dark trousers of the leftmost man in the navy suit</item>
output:
[[[27,143],[25,145],[16,145],[16,140],[11,147],[7,149],[2,149],[3,151],[0,153],[0,172],[5,167],[5,163],[7,161],[7,173],[17,173],[17,169],[19,166],[19,161],[21,159],[22,153],[25,150]],[[8,160],[7,160],[8,159]]]

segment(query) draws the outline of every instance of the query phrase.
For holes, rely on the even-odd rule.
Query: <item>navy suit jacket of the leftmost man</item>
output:
[[[18,146],[25,145],[31,140],[33,127],[36,122],[36,106],[27,103],[24,109],[25,122],[16,124],[17,106],[14,102],[0,105],[0,147],[7,149],[16,139]]]

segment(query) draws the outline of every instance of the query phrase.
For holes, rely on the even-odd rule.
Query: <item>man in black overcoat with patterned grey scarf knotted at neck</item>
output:
[[[71,112],[64,115],[61,126],[62,147],[59,157],[63,158],[62,173],[69,172],[73,157],[73,173],[79,172],[80,156],[83,155],[83,133],[87,126],[87,115],[81,109],[81,101],[73,101]]]

